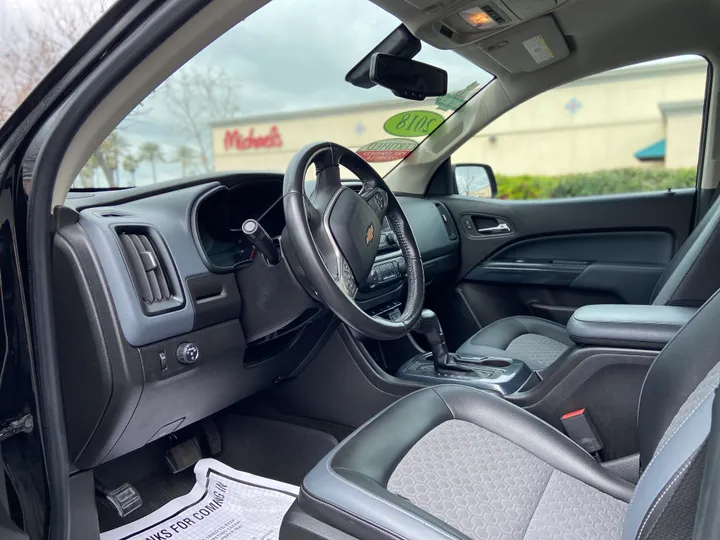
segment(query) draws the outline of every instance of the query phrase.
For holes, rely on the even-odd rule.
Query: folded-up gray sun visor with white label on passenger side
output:
[[[510,73],[536,71],[570,55],[550,15],[483,39],[478,46]]]

